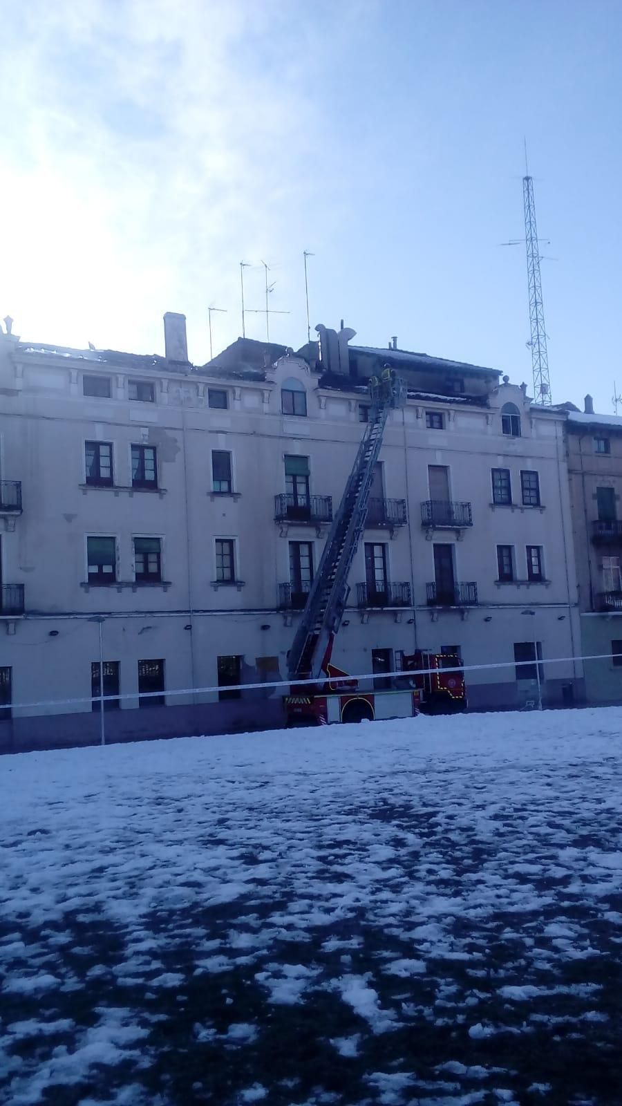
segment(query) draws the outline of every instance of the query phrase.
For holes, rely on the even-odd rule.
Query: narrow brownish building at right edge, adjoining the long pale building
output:
[[[569,411],[568,470],[589,702],[622,702],[622,418]]]

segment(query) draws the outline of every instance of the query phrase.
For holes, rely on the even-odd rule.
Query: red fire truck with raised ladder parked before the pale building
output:
[[[284,698],[284,707],[289,726],[406,718],[419,711],[435,713],[466,707],[457,656],[425,650],[404,655],[401,670],[383,678],[383,685],[391,682],[391,687],[373,691],[360,689],[359,681],[331,660],[388,413],[403,406],[406,398],[404,383],[388,367],[380,377],[372,377],[370,393],[372,405],[365,432],[288,655],[290,695]]]

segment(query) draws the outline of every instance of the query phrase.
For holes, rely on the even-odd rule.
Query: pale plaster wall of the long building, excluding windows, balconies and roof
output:
[[[112,398],[83,396],[83,375],[93,372],[111,375]],[[153,380],[155,403],[131,400],[129,378]],[[291,379],[307,392],[305,418],[281,414],[281,386]],[[216,702],[214,691],[173,692],[214,687],[218,656],[241,656],[245,681],[286,678],[299,617],[279,609],[279,584],[289,581],[289,542],[310,541],[317,566],[326,528],[274,522],[274,497],[286,490],[283,459],[309,457],[311,493],[332,495],[336,510],[364,430],[359,421],[364,393],[348,380],[341,389],[320,388],[319,379],[293,356],[278,362],[266,380],[210,382],[196,373],[102,364],[96,355],[90,363],[71,352],[25,352],[0,340],[2,478],[21,480],[23,495],[14,530],[2,534],[2,573],[6,583],[24,584],[27,611],[24,619],[3,618],[0,666],[12,668],[14,703],[83,700],[58,708],[15,707],[22,733],[24,716],[58,716],[55,732],[61,732],[68,716],[90,711],[91,662],[99,659],[100,626],[89,620],[94,617],[104,618],[104,659],[120,661],[121,693],[131,697],[122,714],[137,708],[141,659],[165,660],[167,703],[179,711]],[[210,384],[227,389],[226,410],[209,406]],[[508,401],[520,410],[520,437],[501,434],[500,408]],[[469,705],[476,708],[511,707],[533,698],[529,681],[516,679],[515,641],[537,639],[546,661],[577,655],[580,636],[574,554],[567,540],[563,416],[531,407],[525,389],[509,384],[490,392],[488,403],[411,398],[391,414],[381,452],[384,495],[406,501],[408,521],[393,533],[366,529],[364,542],[386,545],[388,578],[410,585],[412,601],[395,611],[356,607],[356,584],[365,580],[362,543],[334,653],[335,664],[355,674],[371,670],[377,648],[412,653],[458,646],[467,666],[507,662],[468,675]],[[443,413],[443,429],[426,428],[426,410]],[[87,439],[113,444],[118,487],[85,486]],[[157,449],[157,492],[131,488],[133,442]],[[214,449],[232,455],[232,495],[211,491]],[[429,465],[448,468],[450,499],[471,504],[471,526],[431,531],[422,525],[422,502],[431,497]],[[493,505],[491,468],[510,470],[512,505]],[[521,503],[522,469],[539,473],[539,507]],[[89,534],[116,538],[116,586],[86,586]],[[162,539],[163,584],[134,582],[135,535]],[[215,584],[217,538],[236,542],[231,586]],[[476,606],[428,607],[426,585],[434,581],[437,542],[453,546],[456,581],[477,585]],[[515,546],[519,580],[511,584],[497,582],[499,543]],[[530,544],[543,550],[543,583],[527,581],[525,551]],[[578,662],[545,667],[547,701],[561,702],[569,685],[580,698]],[[272,720],[281,693],[270,693]],[[246,699],[261,705],[266,695],[249,692]],[[218,724],[225,727],[236,711],[239,720],[240,709],[239,700],[219,703]],[[262,710],[265,716],[268,707]],[[175,724],[207,726],[204,714],[179,711]],[[247,711],[250,726],[255,708]],[[114,721],[112,713],[106,717],[111,732],[115,727],[126,732],[125,719]],[[136,717],[145,719],[147,711]],[[38,724],[44,728],[43,721]],[[158,726],[154,721],[157,732]]]

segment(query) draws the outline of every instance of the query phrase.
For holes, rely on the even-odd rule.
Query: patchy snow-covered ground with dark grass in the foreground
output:
[[[0,760],[0,1100],[622,1100],[622,711]]]

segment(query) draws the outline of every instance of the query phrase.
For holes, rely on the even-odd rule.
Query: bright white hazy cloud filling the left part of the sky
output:
[[[229,309],[218,344],[239,333],[242,258],[281,262],[273,305],[292,306],[318,190],[328,232],[345,202],[339,121],[318,90],[372,8],[340,0],[335,20],[328,3],[280,0],[22,6],[0,48],[0,315],[29,338],[160,351],[162,313],[184,311],[201,359],[208,303]],[[249,271],[249,304],[261,280]],[[300,295],[292,341],[302,324]]]

